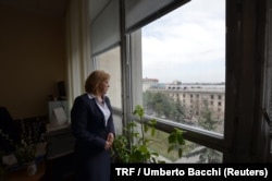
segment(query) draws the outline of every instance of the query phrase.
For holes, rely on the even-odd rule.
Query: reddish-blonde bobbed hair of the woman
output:
[[[110,74],[104,71],[97,70],[91,72],[85,81],[85,92],[97,94],[99,92],[99,85],[107,80],[110,80]]]

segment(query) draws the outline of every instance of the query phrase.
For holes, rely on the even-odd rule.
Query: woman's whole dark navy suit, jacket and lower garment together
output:
[[[110,152],[104,150],[104,145],[108,133],[115,132],[112,107],[107,96],[104,102],[111,112],[107,126],[96,99],[89,98],[87,94],[76,97],[71,110],[71,128],[76,138],[75,167],[86,180],[108,180],[110,174]]]

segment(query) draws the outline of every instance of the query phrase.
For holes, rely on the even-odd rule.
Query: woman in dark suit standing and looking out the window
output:
[[[75,98],[71,111],[71,126],[76,138],[76,178],[79,181],[110,180],[110,148],[115,133],[112,107],[106,96],[109,81],[108,73],[92,72],[85,82],[86,93]]]

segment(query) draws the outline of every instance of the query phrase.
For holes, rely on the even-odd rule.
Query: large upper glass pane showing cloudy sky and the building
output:
[[[141,28],[146,113],[224,132],[225,1],[194,0]]]

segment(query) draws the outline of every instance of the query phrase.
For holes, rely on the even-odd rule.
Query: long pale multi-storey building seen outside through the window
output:
[[[225,110],[224,83],[159,83],[154,79],[143,81],[143,92],[163,93],[174,101],[180,101],[184,108],[185,123],[198,126],[203,112],[209,113],[209,119],[218,122],[215,132],[223,133]],[[207,118],[206,118],[207,119]]]

